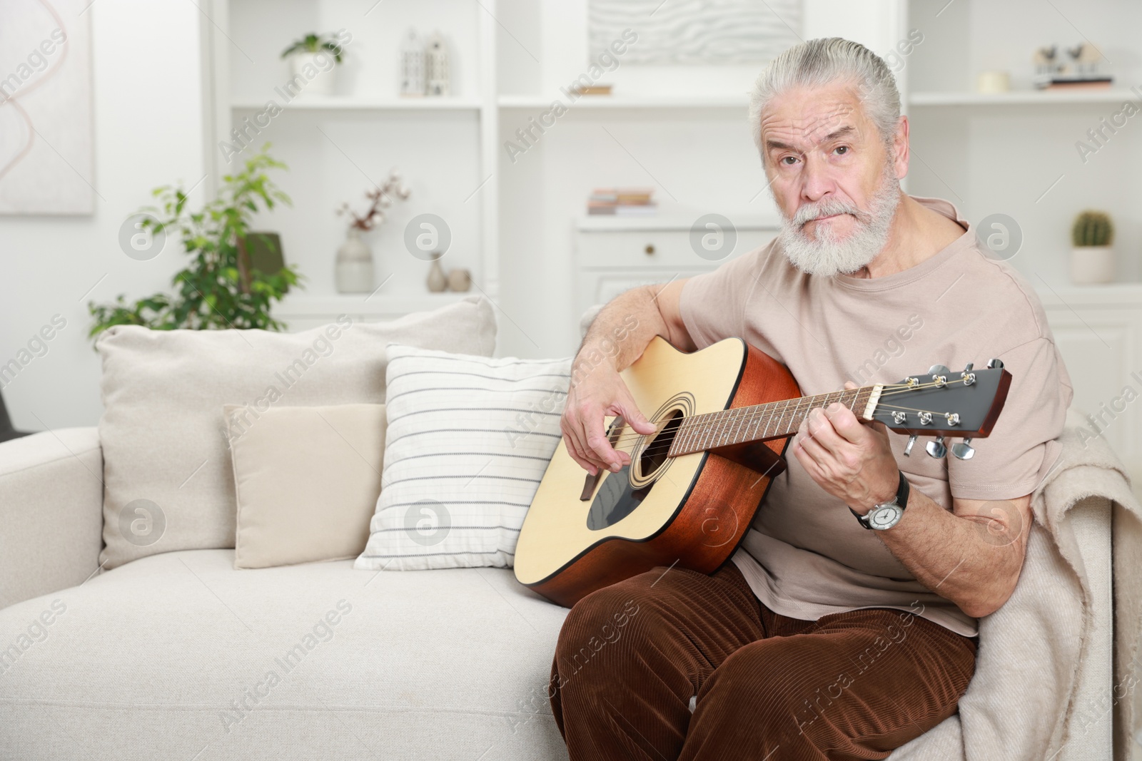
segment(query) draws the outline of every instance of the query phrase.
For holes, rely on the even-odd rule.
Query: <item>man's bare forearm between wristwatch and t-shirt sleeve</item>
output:
[[[1020,525],[957,516],[914,488],[900,521],[876,533],[918,582],[980,617],[1003,605],[1019,577],[1019,534],[1028,526],[1014,523]]]

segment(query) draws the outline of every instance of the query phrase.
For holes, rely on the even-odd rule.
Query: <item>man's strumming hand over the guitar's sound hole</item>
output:
[[[656,430],[654,423],[638,411],[622,377],[604,362],[571,386],[560,419],[568,454],[592,476],[600,468],[617,471],[630,463],[630,454],[621,448],[621,443],[616,451],[606,440],[603,419],[608,415],[622,415],[627,424],[640,434],[653,434]]]

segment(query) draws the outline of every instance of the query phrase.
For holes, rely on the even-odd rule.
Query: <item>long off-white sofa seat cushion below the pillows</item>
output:
[[[566,613],[504,568],[154,554],[0,610],[0,648],[29,643],[0,659],[0,747],[24,761],[565,760],[546,688]]]

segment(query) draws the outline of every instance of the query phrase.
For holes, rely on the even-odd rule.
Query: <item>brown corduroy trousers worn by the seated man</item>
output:
[[[727,561],[579,600],[547,694],[572,761],[883,759],[954,714],[974,670],[972,638],[909,612],[778,615]]]

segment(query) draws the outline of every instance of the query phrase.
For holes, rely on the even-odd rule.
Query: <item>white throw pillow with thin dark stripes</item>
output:
[[[571,357],[387,346],[384,470],[354,568],[509,567],[562,436]]]

